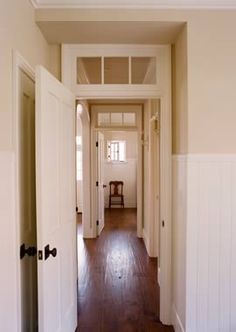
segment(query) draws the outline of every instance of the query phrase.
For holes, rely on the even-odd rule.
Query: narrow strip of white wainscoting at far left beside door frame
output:
[[[14,153],[0,151],[0,331],[18,331],[15,179]]]

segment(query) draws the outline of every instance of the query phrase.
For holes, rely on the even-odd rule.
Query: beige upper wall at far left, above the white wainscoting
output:
[[[34,22],[30,1],[0,4],[0,150],[12,149],[12,50],[18,50],[32,67],[49,66],[49,48]]]

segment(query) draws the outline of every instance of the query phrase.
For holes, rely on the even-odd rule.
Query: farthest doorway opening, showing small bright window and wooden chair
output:
[[[136,131],[103,131],[104,135],[104,208],[105,225],[110,209],[116,214],[125,209],[137,211],[137,163],[138,134]],[[120,198],[114,197],[109,204],[110,182],[123,182],[124,207]],[[121,188],[119,188],[121,190]],[[137,221],[136,221],[137,229]]]

